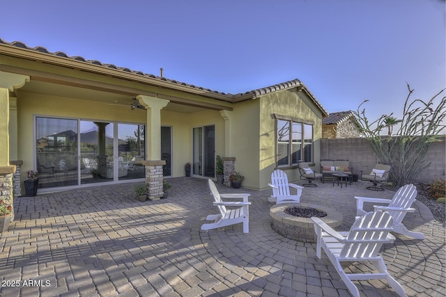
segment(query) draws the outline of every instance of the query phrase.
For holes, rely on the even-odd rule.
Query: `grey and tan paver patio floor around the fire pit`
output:
[[[218,186],[221,193],[251,193],[249,234],[240,224],[203,232],[204,218],[216,211],[206,179],[169,182],[169,198],[155,202],[134,198],[134,184],[16,198],[15,220],[0,234],[0,295],[350,296],[325,254],[317,259],[315,243],[272,230],[270,190]],[[340,211],[341,230],[353,223],[353,196],[394,194],[367,191],[365,182],[318,185],[305,188],[301,202]],[[445,296],[444,225],[424,204],[415,208],[403,222],[426,239],[396,234],[383,250],[387,268],[408,296]],[[356,284],[362,296],[396,296],[380,280]]]

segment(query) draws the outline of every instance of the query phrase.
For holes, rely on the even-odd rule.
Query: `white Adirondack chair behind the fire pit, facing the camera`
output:
[[[274,170],[271,174],[272,195],[268,198],[269,202],[276,202],[276,204],[286,202],[300,202],[300,195],[302,195],[303,186],[297,184],[289,184],[286,173],[282,170]],[[290,188],[296,189],[296,194],[291,195]]]

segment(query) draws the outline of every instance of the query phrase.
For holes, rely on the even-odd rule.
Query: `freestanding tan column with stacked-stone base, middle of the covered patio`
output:
[[[158,200],[164,196],[162,191],[162,166],[166,161],[161,160],[161,109],[167,106],[169,100],[138,95],[139,103],[147,109],[146,124],[146,184],[148,185],[148,199]]]

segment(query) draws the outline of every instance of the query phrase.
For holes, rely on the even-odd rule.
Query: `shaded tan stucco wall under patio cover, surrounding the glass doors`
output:
[[[23,170],[33,169],[34,115],[109,122],[146,123],[146,111],[130,110],[128,106],[114,106],[68,97],[34,93],[20,93],[18,107],[18,159],[23,160]],[[161,111],[161,125],[172,127],[173,177],[185,175],[184,164],[192,161],[192,127],[215,125],[215,154],[224,155],[224,120],[218,111],[178,113]],[[24,177],[22,177],[23,179]]]

